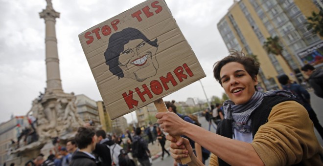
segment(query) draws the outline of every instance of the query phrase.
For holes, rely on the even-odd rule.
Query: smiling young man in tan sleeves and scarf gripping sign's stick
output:
[[[189,166],[203,165],[187,139],[172,137],[185,135],[212,152],[210,166],[323,165],[323,149],[306,109],[288,91],[256,91],[258,70],[257,62],[236,51],[215,63],[214,77],[230,98],[223,104],[225,119],[216,134],[175,113],[156,114],[169,133],[175,160],[189,156]]]

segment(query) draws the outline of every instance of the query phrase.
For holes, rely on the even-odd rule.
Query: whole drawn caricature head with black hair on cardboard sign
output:
[[[150,41],[138,29],[126,28],[110,37],[104,56],[114,75],[142,82],[157,73],[157,50],[157,39]]]

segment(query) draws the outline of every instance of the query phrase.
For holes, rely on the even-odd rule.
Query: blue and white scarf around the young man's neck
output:
[[[251,99],[245,104],[235,105],[231,100],[226,100],[223,103],[224,108],[224,118],[228,120],[233,120],[232,126],[236,128],[241,133],[251,132],[251,119],[250,115],[254,110],[261,104],[264,96],[285,96],[290,98],[295,98],[295,96],[285,90],[271,90],[262,94],[258,91],[254,93]],[[232,127],[232,129],[233,129]]]

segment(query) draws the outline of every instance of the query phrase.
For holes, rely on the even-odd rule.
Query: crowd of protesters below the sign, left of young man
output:
[[[65,141],[54,138],[49,156],[39,154],[25,166],[151,166],[148,144],[161,145],[162,154],[169,155],[165,134],[152,123],[118,135],[95,130],[87,123]]]

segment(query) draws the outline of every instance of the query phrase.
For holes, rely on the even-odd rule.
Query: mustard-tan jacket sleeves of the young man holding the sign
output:
[[[251,143],[266,166],[323,166],[319,144],[306,109],[297,102],[277,104],[261,125]],[[218,166],[217,156],[211,155],[209,166]]]

